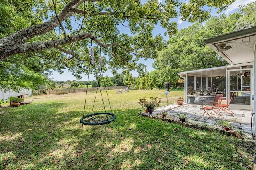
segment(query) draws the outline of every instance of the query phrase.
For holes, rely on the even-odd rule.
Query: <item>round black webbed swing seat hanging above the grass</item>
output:
[[[104,125],[108,124],[116,119],[116,115],[113,113],[92,113],[86,115],[80,119],[83,125]]]

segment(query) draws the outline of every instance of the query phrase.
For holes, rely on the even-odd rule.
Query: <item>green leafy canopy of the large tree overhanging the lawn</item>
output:
[[[90,39],[94,42],[95,58],[99,49],[104,58],[104,71],[111,68],[130,71],[138,69],[139,58],[157,57],[157,52],[166,47],[162,36],[152,36],[156,24],[167,28],[166,34],[177,33],[177,24],[172,20],[204,21],[210,17],[210,9],[204,6],[225,9],[234,0],[2,0],[0,4],[0,63],[16,65],[4,67],[0,76],[6,85],[22,81],[13,78],[25,70],[34,75],[46,75],[50,70],[63,73],[67,68],[78,79],[88,73]],[[127,33],[123,33],[127,29]],[[21,61],[23,67],[18,67]],[[2,68],[2,67],[1,67]],[[12,71],[10,71],[12,70]],[[31,74],[30,74],[31,75]],[[36,79],[36,76],[33,78]],[[9,81],[10,80],[10,81]],[[1,81],[2,82],[2,81]],[[38,82],[40,83],[40,82]],[[32,87],[31,83],[20,83],[20,87]],[[16,87],[16,85],[15,85]]]

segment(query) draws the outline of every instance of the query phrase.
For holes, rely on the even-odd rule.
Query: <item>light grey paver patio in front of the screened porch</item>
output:
[[[187,113],[186,121],[188,122],[217,126],[216,123],[218,122],[218,120],[222,120],[222,118],[216,117],[215,118],[216,120],[214,120],[213,118],[209,117],[209,115],[207,114],[204,114],[204,116],[202,116],[202,114],[204,113],[204,110],[200,110],[201,107],[202,105],[196,105],[196,104],[184,104],[184,105],[171,104],[171,105],[166,105],[164,107],[155,109],[155,111],[152,112],[152,115],[158,115],[161,112],[167,112],[168,117],[178,119],[177,113]],[[229,121],[230,124],[234,125],[235,127],[234,130],[237,130],[238,132],[242,131],[246,134],[246,136],[252,136],[252,128],[251,128],[252,110],[238,110],[238,109],[236,110],[230,109],[230,110],[234,113],[234,116],[231,116],[230,114],[227,114],[227,113],[221,113],[224,119],[226,121]],[[254,127],[253,120],[252,120],[252,127]]]

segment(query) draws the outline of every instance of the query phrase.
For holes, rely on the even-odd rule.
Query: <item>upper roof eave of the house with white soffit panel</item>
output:
[[[252,62],[256,45],[256,26],[208,38],[204,42],[231,65]],[[231,48],[217,51],[222,45]]]

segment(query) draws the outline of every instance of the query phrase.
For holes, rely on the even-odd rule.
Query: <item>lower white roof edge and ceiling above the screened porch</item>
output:
[[[242,63],[242,64],[235,64],[235,65],[226,65],[222,67],[214,67],[208,69],[200,69],[200,70],[193,70],[193,71],[184,71],[180,72],[180,75],[197,75],[203,77],[215,77],[215,76],[224,76],[226,75],[226,69],[241,69],[242,66],[247,66],[246,68],[252,68],[253,62],[250,63]],[[233,74],[240,74],[241,71],[232,72]]]

